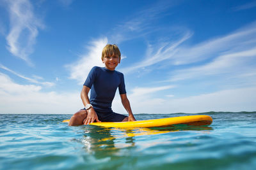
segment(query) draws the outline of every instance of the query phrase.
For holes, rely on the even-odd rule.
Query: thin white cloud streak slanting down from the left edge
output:
[[[48,86],[48,87],[52,87],[52,86],[55,85],[55,83],[51,83],[51,82],[47,82],[47,81],[45,81],[45,82],[40,82],[40,81],[38,81],[38,80],[42,80],[42,79],[43,79],[43,78],[40,77],[40,76],[35,76],[35,75],[33,75],[34,78],[28,78],[28,77],[26,77],[26,76],[23,76],[22,74],[16,73],[16,72],[13,71],[12,69],[9,69],[8,67],[3,66],[2,64],[0,64],[0,68],[1,68],[1,69],[4,69],[4,70],[6,70],[6,71],[9,71],[9,72],[12,73],[12,74],[15,74],[16,76],[19,76],[20,78],[23,78],[23,79],[25,79],[25,80],[28,80],[28,81],[31,82],[31,83],[36,83],[36,84],[40,84],[40,85],[45,85],[45,86]]]

